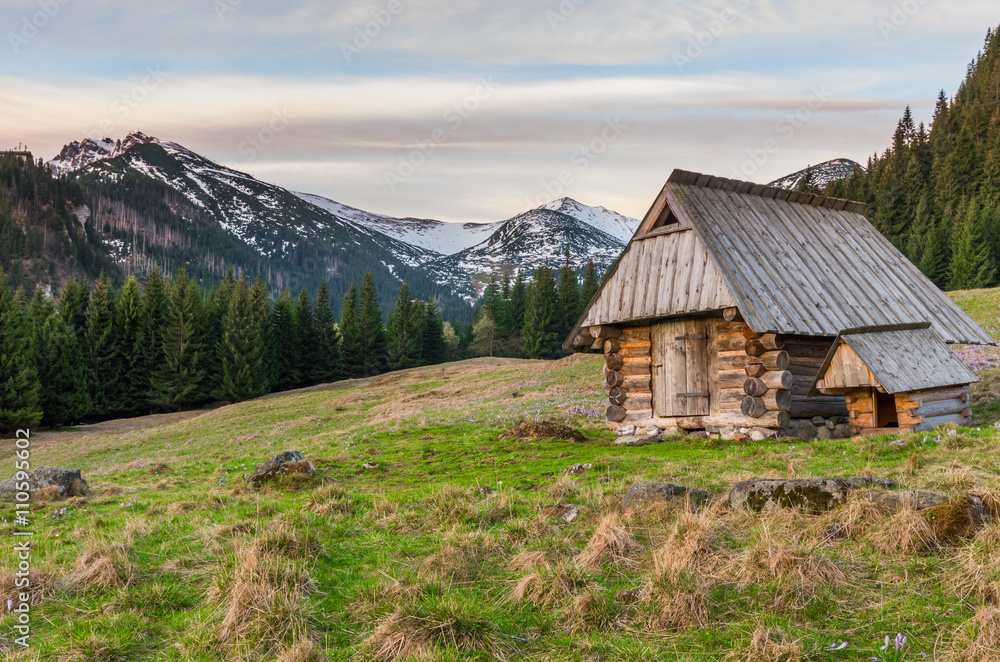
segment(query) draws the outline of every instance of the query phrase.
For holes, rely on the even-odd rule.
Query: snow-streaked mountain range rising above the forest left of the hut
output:
[[[94,183],[102,192],[132,190],[126,183],[143,179],[168,187],[189,203],[193,215],[211,219],[214,232],[273,262],[279,272],[276,280],[272,277],[273,287],[286,281],[312,286],[320,278],[346,287],[371,268],[382,274],[377,279],[386,292],[405,278],[417,296],[472,301],[490,275],[558,267],[567,248],[578,268],[592,259],[603,271],[639,225],[637,219],[570,198],[495,223],[393,218],[293,193],[139,132],[117,141],[71,143],[49,167]],[[191,215],[184,216],[189,224]],[[226,263],[224,254],[213,260]],[[290,275],[281,276],[284,271]]]

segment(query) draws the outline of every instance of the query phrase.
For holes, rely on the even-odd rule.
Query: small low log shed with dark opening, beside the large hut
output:
[[[853,434],[923,432],[972,417],[979,381],[929,323],[841,331],[809,395],[844,395]]]

